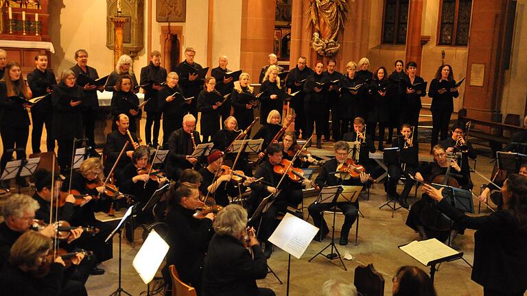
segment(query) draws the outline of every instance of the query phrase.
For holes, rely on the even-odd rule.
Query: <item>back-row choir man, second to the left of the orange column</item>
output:
[[[185,60],[176,66],[175,72],[178,73],[180,86],[185,97],[194,97],[194,99],[191,99],[190,103],[183,108],[183,114],[190,112],[190,114],[197,118],[198,111],[196,110],[196,103],[198,95],[203,88],[203,79],[199,79],[199,72],[203,70],[203,67],[197,62],[194,62],[194,57],[196,57],[196,51],[194,48],[187,47],[185,49]]]

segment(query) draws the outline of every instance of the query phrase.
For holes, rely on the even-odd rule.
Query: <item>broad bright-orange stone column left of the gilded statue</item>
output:
[[[258,83],[261,66],[273,51],[275,8],[276,0],[242,1],[239,68],[249,73],[251,83]]]

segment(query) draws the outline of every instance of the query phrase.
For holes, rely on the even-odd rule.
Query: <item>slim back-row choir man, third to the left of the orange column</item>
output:
[[[150,63],[141,68],[141,87],[145,91],[145,142],[150,147],[159,145],[159,127],[161,126],[161,110],[157,93],[163,89],[161,85],[167,80],[167,70],[161,66],[161,52],[150,53]],[[153,131],[152,131],[152,125]]]

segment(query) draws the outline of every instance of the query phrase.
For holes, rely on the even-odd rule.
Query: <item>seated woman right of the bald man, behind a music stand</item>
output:
[[[223,130],[219,130],[218,132],[216,132],[216,134],[212,138],[212,142],[214,143],[214,146],[212,148],[224,151],[224,158],[226,162],[229,162],[229,164],[234,163],[237,157],[237,153],[229,153],[229,151],[232,151],[232,147],[229,148],[229,151],[226,151],[226,149],[234,142],[237,137],[239,137],[240,140],[243,140],[245,134],[240,135],[240,133],[242,132],[245,131],[238,130],[238,122],[234,118],[234,116],[229,116],[227,117],[227,119],[225,119],[223,123]],[[247,132],[250,133],[250,130],[248,130]],[[252,176],[253,168],[249,164],[248,154],[249,153],[246,152],[242,152],[239,154],[236,167],[244,171],[244,175]]]

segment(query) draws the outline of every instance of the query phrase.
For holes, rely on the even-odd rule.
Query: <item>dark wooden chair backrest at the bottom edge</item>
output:
[[[384,277],[375,271],[371,263],[368,266],[361,265],[355,268],[353,284],[363,296],[384,295]]]

